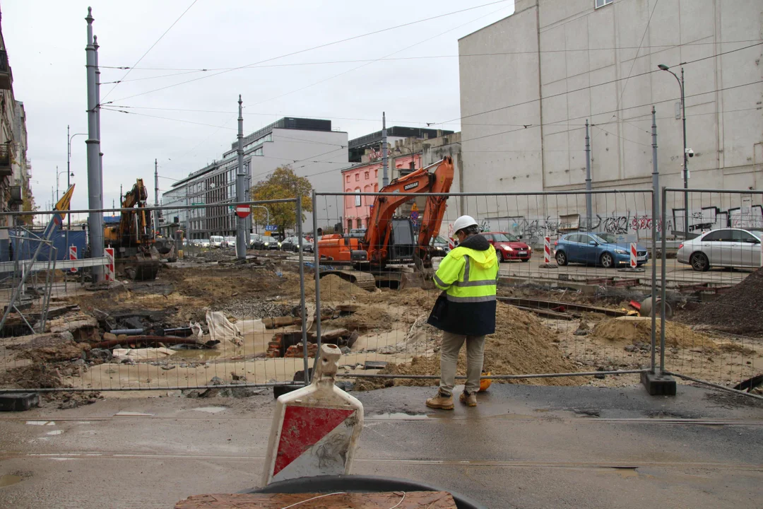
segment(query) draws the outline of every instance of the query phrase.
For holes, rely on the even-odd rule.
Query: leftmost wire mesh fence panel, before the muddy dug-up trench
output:
[[[304,253],[280,242],[301,234],[301,201],[246,205],[286,217],[272,234],[264,211],[249,222],[246,259],[233,247],[237,218],[228,204],[222,222],[195,221],[204,217],[198,206],[164,208],[168,221],[158,230],[151,208],[98,211],[105,247],[113,248],[103,258],[88,250],[90,211],[63,221],[38,212],[24,227],[6,228],[0,302],[12,308],[0,327],[0,387],[243,395],[252,386],[292,383],[307,366],[304,354],[314,353],[302,332]],[[18,217],[0,221],[21,224]],[[51,222],[55,229],[46,230]]]

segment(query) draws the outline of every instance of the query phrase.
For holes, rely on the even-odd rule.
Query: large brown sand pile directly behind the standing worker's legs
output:
[[[493,375],[520,375],[531,373],[562,373],[578,371],[575,364],[562,356],[559,347],[553,343],[555,331],[549,329],[531,313],[521,311],[508,304],[498,303],[495,333],[485,340],[484,372]],[[457,372],[466,374],[466,350],[459,353]],[[414,357],[407,364],[388,364],[381,374],[439,375],[439,356]],[[528,385],[581,385],[578,377],[549,379],[497,380],[498,383],[520,383]],[[357,390],[370,390],[392,385],[438,385],[430,380],[388,380],[359,379]]]

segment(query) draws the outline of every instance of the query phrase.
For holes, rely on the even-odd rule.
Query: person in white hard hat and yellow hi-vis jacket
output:
[[[456,362],[466,342],[466,384],[459,401],[477,406],[477,391],[485,353],[485,334],[495,332],[495,287],[498,257],[479,234],[477,221],[461,216],[453,224],[459,246],[448,253],[434,275],[444,292],[437,299],[428,323],[443,330],[440,348],[439,391],[427,407],[452,410]]]

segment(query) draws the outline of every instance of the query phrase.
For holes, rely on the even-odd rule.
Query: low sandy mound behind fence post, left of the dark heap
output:
[[[660,319],[657,319],[657,341],[659,341]],[[619,317],[600,321],[594,327],[594,338],[609,343],[652,343],[652,318]],[[665,322],[665,344],[678,348],[716,347],[713,340],[703,333],[691,330],[684,324]]]

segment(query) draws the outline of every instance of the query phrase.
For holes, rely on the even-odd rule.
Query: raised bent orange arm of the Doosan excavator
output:
[[[433,169],[433,171],[430,171]],[[394,179],[380,192],[399,193],[396,196],[377,196],[369,217],[369,228],[365,231],[362,246],[368,252],[372,265],[384,266],[388,259],[391,235],[390,221],[394,212],[411,195],[423,192],[449,192],[453,182],[453,160],[446,157],[426,168],[417,169],[406,176]],[[439,232],[439,224],[445,214],[446,196],[430,196],[424,208],[423,220],[418,239],[418,248],[426,249],[431,238]]]

